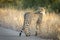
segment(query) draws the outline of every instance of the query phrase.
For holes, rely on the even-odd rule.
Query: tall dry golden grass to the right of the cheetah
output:
[[[42,18],[39,32],[42,38],[56,38],[60,33],[60,14],[54,12],[45,14]]]

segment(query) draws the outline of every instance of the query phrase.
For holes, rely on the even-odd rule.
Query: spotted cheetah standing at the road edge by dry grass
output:
[[[41,8],[40,10],[42,10],[43,8]],[[41,23],[42,21],[42,16],[43,16],[43,12],[41,12],[40,10],[37,10],[35,12],[26,12],[24,15],[24,25],[23,25],[23,30],[26,34],[26,36],[30,36],[30,35],[37,35],[37,31],[39,30],[39,26],[37,26],[38,24]],[[43,10],[45,12],[45,10]],[[22,31],[20,32],[20,36],[21,36]]]

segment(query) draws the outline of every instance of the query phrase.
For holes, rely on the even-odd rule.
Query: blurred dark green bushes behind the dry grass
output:
[[[0,0],[0,8],[26,9],[46,7],[49,10],[60,12],[60,0]]]

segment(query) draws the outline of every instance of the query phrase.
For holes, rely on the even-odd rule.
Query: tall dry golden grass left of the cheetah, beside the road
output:
[[[10,8],[0,8],[0,26],[20,30],[24,23],[24,14],[31,9],[16,10]]]

